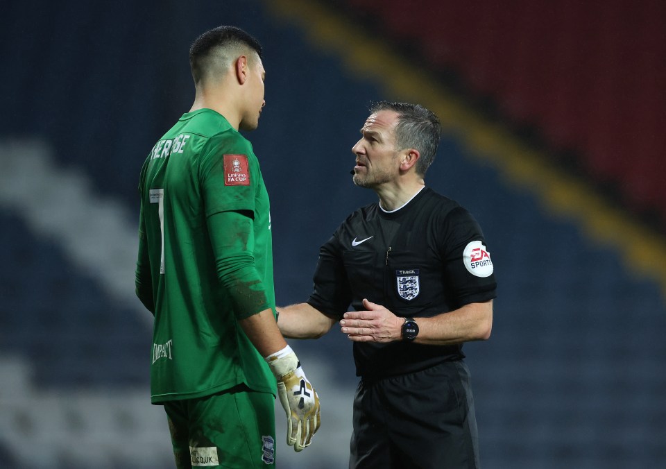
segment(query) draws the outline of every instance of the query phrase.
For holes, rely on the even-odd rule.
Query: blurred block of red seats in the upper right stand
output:
[[[666,5],[348,0],[666,232]],[[569,163],[572,163],[569,161]],[[656,219],[655,219],[656,218]]]

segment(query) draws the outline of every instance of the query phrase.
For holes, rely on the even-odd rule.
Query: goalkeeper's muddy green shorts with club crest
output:
[[[176,467],[275,468],[275,397],[239,385],[164,402]]]

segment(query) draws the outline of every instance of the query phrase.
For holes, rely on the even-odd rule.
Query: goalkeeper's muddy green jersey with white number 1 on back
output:
[[[268,193],[252,146],[221,114],[183,114],[139,182],[137,295],[155,315],[152,402],[275,378],[238,321],[273,309]]]

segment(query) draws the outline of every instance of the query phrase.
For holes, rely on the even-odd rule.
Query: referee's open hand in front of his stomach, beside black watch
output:
[[[366,311],[347,312],[340,321],[341,331],[355,342],[392,342],[402,337],[403,318],[382,305],[363,300]]]

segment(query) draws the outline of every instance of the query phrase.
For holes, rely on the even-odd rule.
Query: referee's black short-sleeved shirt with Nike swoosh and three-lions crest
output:
[[[321,246],[309,305],[334,318],[375,302],[397,316],[435,316],[495,298],[481,228],[455,201],[429,188],[387,213],[373,203],[352,213]],[[462,346],[354,343],[357,375],[384,377],[463,358]]]

